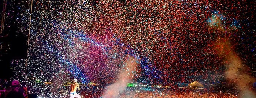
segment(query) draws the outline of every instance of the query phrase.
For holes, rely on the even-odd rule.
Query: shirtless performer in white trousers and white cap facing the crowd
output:
[[[77,88],[78,91],[80,91],[79,84],[77,83],[77,79],[74,79],[73,82],[70,84],[71,92],[70,92],[70,98],[81,98],[79,94],[77,94]]]

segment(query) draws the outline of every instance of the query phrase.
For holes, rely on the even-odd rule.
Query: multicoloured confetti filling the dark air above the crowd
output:
[[[7,1],[8,6],[14,3]],[[168,85],[173,91],[121,91],[120,98],[209,97],[220,91],[225,93],[218,97],[237,98],[240,84],[231,79],[241,77],[227,72],[240,62],[246,67],[239,75],[249,74],[255,64],[254,4],[248,0],[36,0],[29,27],[31,1],[20,0],[17,14],[15,7],[6,9],[4,28],[11,30],[16,20],[19,32],[30,35],[29,51],[27,67],[23,59],[11,61],[15,74],[10,80],[19,79],[29,93],[64,98],[70,90],[65,85],[76,78],[84,84],[79,94],[101,97],[119,82],[120,72],[127,72],[133,74],[131,83]],[[127,55],[138,59],[134,71],[125,69]],[[178,83],[194,81],[210,92],[179,92]]]

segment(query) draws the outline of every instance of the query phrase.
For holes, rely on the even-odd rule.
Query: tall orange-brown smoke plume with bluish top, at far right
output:
[[[210,18],[209,20],[213,20],[213,18]],[[223,37],[222,34],[220,34],[228,31],[228,29],[223,29],[223,25],[220,25],[222,24],[220,18],[214,18],[214,21],[217,22],[218,25],[213,25],[216,23],[211,21],[209,22],[209,26],[210,29],[214,29],[216,33],[219,33],[214,49],[219,57],[223,58],[223,63],[227,67],[227,70],[225,71],[226,78],[231,83],[237,85],[237,90],[240,93],[239,98],[256,98],[256,93],[252,86],[253,82],[255,82],[255,78],[249,74],[251,69],[246,66],[238,54],[234,52],[228,37]]]

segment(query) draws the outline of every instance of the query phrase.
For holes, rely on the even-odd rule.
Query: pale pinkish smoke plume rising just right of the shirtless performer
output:
[[[124,68],[119,72],[118,79],[115,83],[107,87],[103,98],[118,98],[119,93],[122,93],[127,86],[127,83],[133,80],[132,72],[136,70],[138,60],[135,57],[127,56]]]

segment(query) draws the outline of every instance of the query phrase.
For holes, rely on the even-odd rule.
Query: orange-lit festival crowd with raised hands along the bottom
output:
[[[99,93],[85,94],[81,93],[84,98],[103,98]],[[235,91],[205,91],[205,90],[153,90],[144,91],[137,89],[126,89],[120,92],[118,98],[239,98],[240,94]]]

